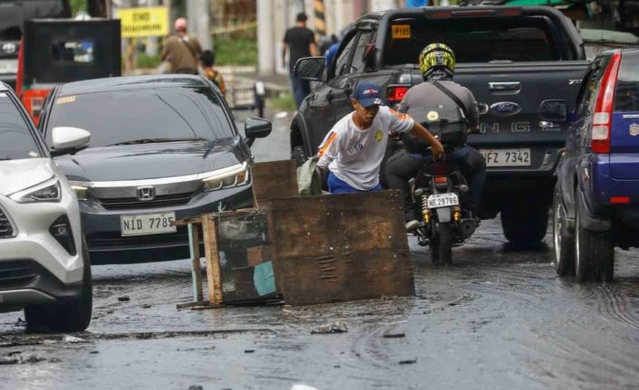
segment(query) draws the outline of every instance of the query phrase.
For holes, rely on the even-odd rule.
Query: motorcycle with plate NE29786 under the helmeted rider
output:
[[[480,224],[461,207],[460,197],[469,189],[454,161],[426,161],[415,176],[413,196],[422,216],[415,233],[420,245],[430,246],[435,264],[451,264],[453,247],[465,243]]]

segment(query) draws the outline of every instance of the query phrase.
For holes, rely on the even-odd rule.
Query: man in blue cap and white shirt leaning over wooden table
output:
[[[320,145],[320,168],[329,168],[329,192],[349,194],[380,191],[379,167],[388,136],[411,133],[432,147],[433,156],[444,156],[443,146],[411,117],[382,106],[379,87],[360,82],[350,100],[355,111],[330,129]]]

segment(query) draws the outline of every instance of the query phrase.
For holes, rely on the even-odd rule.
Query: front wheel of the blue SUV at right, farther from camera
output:
[[[555,271],[559,276],[572,276],[575,274],[575,236],[568,231],[566,209],[558,186],[555,187],[552,210]]]

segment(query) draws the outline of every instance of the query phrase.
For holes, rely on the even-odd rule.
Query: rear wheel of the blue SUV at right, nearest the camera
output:
[[[584,228],[580,214],[584,205],[577,194],[575,224],[575,268],[577,281],[613,281],[615,251],[610,232],[593,232]]]

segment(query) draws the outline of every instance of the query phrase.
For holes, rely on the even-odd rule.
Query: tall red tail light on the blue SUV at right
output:
[[[593,153],[610,152],[610,131],[612,128],[613,104],[615,102],[615,84],[619,72],[621,53],[615,52],[606,67],[604,77],[596,97],[593,128],[590,136],[590,149]]]

